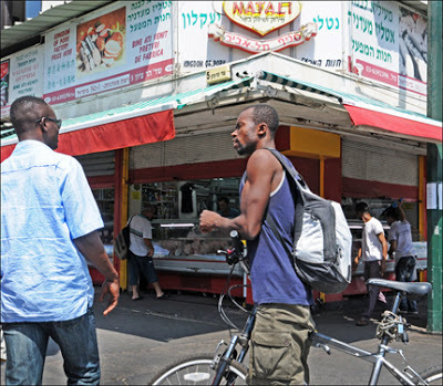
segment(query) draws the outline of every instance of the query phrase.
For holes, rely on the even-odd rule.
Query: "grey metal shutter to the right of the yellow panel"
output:
[[[343,138],[342,175],[369,181],[418,186],[419,157],[404,150]]]

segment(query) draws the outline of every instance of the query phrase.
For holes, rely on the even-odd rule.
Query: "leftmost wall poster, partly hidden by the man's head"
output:
[[[2,116],[9,115],[10,105],[18,97],[43,95],[43,56],[44,46],[37,45],[19,51],[1,63]]]

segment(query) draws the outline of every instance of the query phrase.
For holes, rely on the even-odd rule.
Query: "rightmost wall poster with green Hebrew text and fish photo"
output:
[[[395,3],[352,1],[350,71],[426,95],[427,22]]]

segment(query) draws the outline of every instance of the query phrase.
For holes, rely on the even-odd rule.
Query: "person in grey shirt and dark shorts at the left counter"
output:
[[[147,204],[142,213],[132,217],[128,221],[131,244],[127,262],[130,265],[130,285],[132,286],[132,300],[138,301],[143,296],[138,291],[138,280],[141,274],[153,285],[157,299],[165,299],[166,294],[162,291],[158,278],[154,268],[154,246],[152,242],[151,221],[155,215],[155,206]]]

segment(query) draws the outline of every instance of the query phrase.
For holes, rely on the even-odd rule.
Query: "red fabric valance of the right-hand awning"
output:
[[[429,124],[380,111],[343,104],[356,126],[372,126],[414,137],[442,140],[442,125]],[[431,119],[430,119],[431,121]]]

